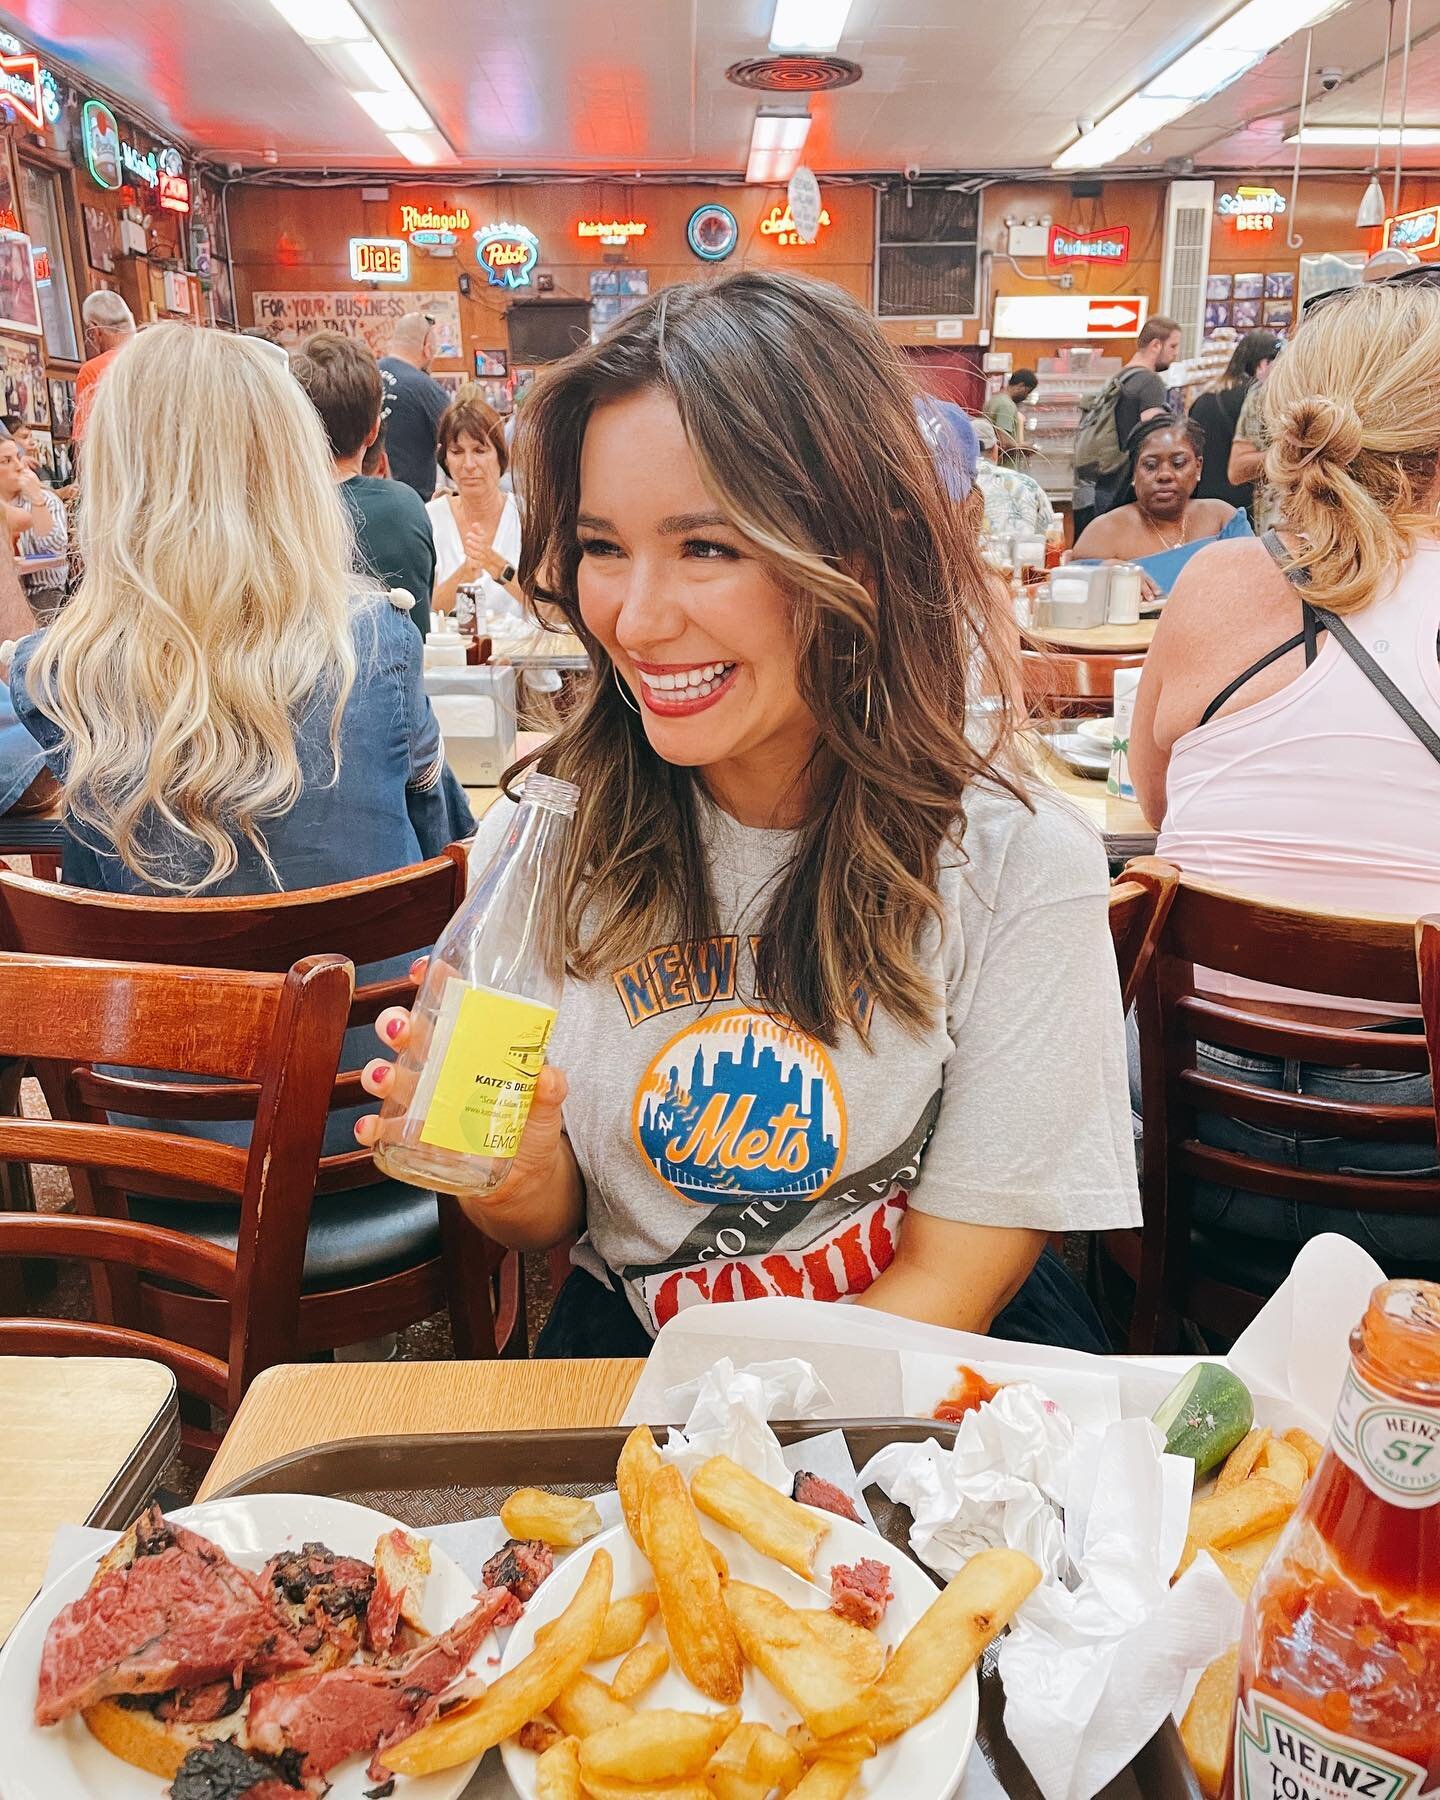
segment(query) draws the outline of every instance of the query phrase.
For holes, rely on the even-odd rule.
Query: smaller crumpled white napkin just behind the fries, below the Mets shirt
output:
[[[668,1411],[689,1408],[684,1427],[670,1427],[661,1451],[666,1462],[689,1474],[707,1456],[729,1456],[781,1494],[790,1492],[794,1476],[767,1420],[776,1413],[819,1418],[833,1404],[830,1390],[799,1357],[736,1368],[727,1355],[698,1381],[668,1388],[664,1400]]]

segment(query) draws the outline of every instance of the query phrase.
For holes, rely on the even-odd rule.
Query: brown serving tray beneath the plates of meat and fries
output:
[[[952,1429],[952,1427],[949,1427]],[[781,1444],[823,1431],[844,1431],[860,1467],[886,1444],[923,1444],[947,1427],[927,1418],[779,1420]],[[517,1487],[549,1487],[590,1496],[616,1485],[616,1458],[626,1431],[605,1426],[585,1431],[482,1431],[434,1436],[346,1438],[315,1449],[292,1451],[230,1481],[212,1499],[234,1494],[331,1494],[389,1512],[423,1530],[459,1519],[490,1517]],[[878,1489],[866,1494],[875,1523],[896,1550],[905,1543],[909,1514]],[[1040,1800],[1040,1791],[1004,1735],[1004,1692],[995,1674],[992,1645],[979,1681],[977,1744],[995,1782],[1010,1800]],[[1161,1726],[1100,1800],[1202,1800],[1201,1787],[1172,1719]]]

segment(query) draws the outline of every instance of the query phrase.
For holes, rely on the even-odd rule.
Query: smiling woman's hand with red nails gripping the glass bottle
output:
[[[425,979],[427,958],[412,965],[414,981]],[[410,1012],[407,1006],[387,1006],[374,1021],[376,1037],[387,1049],[400,1055],[410,1042]],[[396,1064],[376,1057],[360,1071],[360,1085],[378,1100],[394,1093]],[[544,1249],[580,1228],[583,1188],[580,1166],[565,1138],[562,1107],[567,1084],[560,1069],[549,1064],[535,1084],[520,1147],[504,1181],[488,1193],[463,1193],[464,1211],[502,1244],[515,1249]],[[373,1148],[380,1120],[367,1112],[355,1121],[355,1136]]]

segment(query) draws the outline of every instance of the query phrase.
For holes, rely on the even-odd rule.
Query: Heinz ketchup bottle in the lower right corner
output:
[[[1440,1283],[1350,1336],[1330,1442],[1240,1636],[1229,1800],[1440,1795]]]

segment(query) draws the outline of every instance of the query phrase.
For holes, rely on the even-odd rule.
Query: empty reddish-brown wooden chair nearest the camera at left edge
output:
[[[0,1057],[32,1060],[52,1096],[49,1120],[0,1118],[0,1157],[70,1168],[97,1215],[0,1215],[0,1273],[22,1256],[85,1260],[117,1289],[198,1289],[221,1318],[218,1348],[203,1352],[110,1321],[0,1319],[0,1352],[153,1355],[223,1411],[263,1368],[297,1359],[310,1197],[351,988],[340,956],[277,976],[0,952]],[[95,1064],[167,1078],[97,1075]],[[121,1098],[121,1111],[158,1121],[214,1116],[205,1096],[221,1080],[252,1096],[248,1148],[108,1120]],[[137,1224],[131,1188],[238,1204],[236,1249]]]

